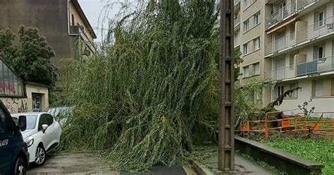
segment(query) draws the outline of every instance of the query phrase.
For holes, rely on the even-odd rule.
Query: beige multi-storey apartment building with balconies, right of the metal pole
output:
[[[265,106],[293,87],[276,109],[297,109],[312,99],[316,111],[334,109],[334,1],[235,0],[235,50],[242,53],[240,85],[272,80],[254,93]],[[292,110],[290,113],[296,113]]]

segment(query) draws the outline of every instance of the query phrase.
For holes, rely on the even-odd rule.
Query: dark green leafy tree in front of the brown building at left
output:
[[[17,44],[16,44],[17,43]],[[37,28],[18,29],[18,42],[11,30],[0,30],[0,56],[25,81],[54,85],[56,73],[50,58],[54,51]]]

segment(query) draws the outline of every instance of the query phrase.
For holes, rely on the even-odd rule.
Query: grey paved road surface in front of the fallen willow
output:
[[[109,165],[92,153],[70,153],[48,157],[42,167],[31,167],[27,174],[110,174],[135,175],[127,172],[113,171]],[[150,172],[140,175],[195,175],[189,167],[153,167]]]

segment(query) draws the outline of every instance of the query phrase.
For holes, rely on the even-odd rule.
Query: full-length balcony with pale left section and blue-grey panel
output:
[[[334,56],[306,61],[299,63],[296,66],[286,66],[271,71],[265,71],[264,78],[277,81],[330,71],[334,71]]]

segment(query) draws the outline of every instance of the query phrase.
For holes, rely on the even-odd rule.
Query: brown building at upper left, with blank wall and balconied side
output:
[[[0,30],[16,32],[20,25],[38,28],[56,52],[51,59],[55,64],[96,52],[97,35],[78,0],[1,0],[0,6]]]

